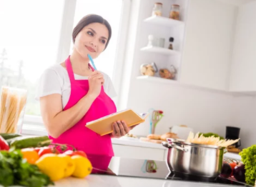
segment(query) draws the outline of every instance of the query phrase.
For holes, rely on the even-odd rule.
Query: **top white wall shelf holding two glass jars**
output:
[[[144,19],[144,21],[149,24],[158,24],[158,25],[169,26],[169,27],[184,25],[183,21],[169,19],[163,16],[151,16],[147,19]]]

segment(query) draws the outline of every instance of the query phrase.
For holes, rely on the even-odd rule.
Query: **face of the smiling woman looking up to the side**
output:
[[[95,59],[104,51],[108,37],[109,31],[104,24],[89,24],[77,34],[74,49],[83,58],[87,58],[87,54],[90,54]]]

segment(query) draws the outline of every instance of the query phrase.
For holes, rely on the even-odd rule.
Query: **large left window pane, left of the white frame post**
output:
[[[64,1],[0,1],[0,87],[28,90],[26,114],[40,115],[36,81],[56,62]]]

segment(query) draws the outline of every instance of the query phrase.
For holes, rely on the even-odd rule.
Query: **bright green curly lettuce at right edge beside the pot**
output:
[[[247,184],[254,186],[256,179],[256,145],[244,148],[239,154],[245,164],[245,181]]]

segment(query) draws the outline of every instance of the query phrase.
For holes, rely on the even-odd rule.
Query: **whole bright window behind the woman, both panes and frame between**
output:
[[[99,14],[112,26],[109,46],[95,59],[97,69],[112,79],[120,46],[120,17],[128,8],[123,4],[125,1],[128,0],[0,0],[0,87],[13,86],[29,91],[28,123],[41,123],[39,102],[34,97],[44,69],[60,63],[72,51],[72,34],[65,28],[73,29],[87,14]],[[76,7],[75,11],[71,11],[71,7]]]

